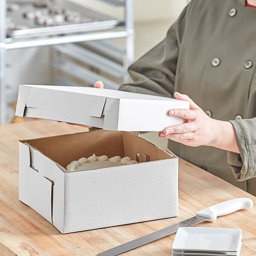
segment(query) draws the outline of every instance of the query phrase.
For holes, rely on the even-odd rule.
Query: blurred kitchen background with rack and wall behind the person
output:
[[[0,123],[15,117],[19,84],[117,89],[127,67],[163,40],[188,0],[1,0]],[[155,133],[142,135],[166,147]]]

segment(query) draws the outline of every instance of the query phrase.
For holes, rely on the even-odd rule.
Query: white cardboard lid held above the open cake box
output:
[[[90,125],[117,131],[162,131],[183,119],[168,116],[189,102],[93,87],[20,85],[17,116]]]

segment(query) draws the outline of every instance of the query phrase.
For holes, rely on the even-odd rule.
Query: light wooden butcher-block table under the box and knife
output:
[[[195,215],[200,209],[238,197],[253,199],[252,209],[218,217],[198,227],[241,228],[241,256],[256,255],[256,198],[180,159],[179,217],[62,235],[18,200],[18,140],[86,131],[66,123],[36,120],[0,126],[0,256],[85,255],[144,236]],[[175,234],[123,255],[171,256]]]

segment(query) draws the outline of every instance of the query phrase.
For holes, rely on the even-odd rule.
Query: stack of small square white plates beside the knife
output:
[[[172,256],[239,256],[241,229],[179,227]]]

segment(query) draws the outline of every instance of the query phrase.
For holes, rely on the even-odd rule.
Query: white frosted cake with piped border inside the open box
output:
[[[122,166],[137,163],[136,160],[131,160],[130,157],[111,157],[108,158],[105,155],[97,157],[95,154],[86,158],[81,157],[79,160],[74,160],[67,165],[67,172],[85,171],[92,169],[99,169],[105,167]]]

